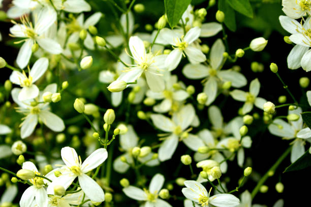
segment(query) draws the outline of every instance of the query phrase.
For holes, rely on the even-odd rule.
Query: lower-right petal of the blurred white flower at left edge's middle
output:
[[[55,114],[44,110],[39,113],[41,121],[53,131],[63,131],[65,129],[64,121]]]

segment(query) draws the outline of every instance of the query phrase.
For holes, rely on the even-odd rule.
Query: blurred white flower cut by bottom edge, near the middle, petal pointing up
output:
[[[135,186],[123,188],[123,192],[132,199],[146,201],[144,207],[172,207],[168,202],[158,198],[164,184],[164,176],[156,174],[151,179],[149,189],[141,190]]]

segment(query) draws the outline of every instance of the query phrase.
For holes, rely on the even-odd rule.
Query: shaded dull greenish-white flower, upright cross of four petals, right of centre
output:
[[[205,105],[210,105],[216,98],[218,91],[218,83],[230,81],[233,87],[240,88],[247,84],[246,78],[235,71],[226,70],[221,71],[223,63],[223,53],[225,46],[221,39],[217,39],[210,50],[210,64],[208,66],[203,64],[186,64],[183,67],[182,73],[189,79],[205,78],[204,93],[207,94],[207,101]]]

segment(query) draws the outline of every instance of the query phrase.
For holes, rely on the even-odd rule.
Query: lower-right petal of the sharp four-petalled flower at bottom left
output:
[[[78,176],[79,184],[85,195],[94,202],[103,202],[105,194],[103,189],[90,177],[85,174]]]

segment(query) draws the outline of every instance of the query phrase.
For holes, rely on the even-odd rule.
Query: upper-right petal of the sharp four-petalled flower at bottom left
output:
[[[98,167],[107,159],[107,157],[108,153],[106,149],[100,148],[95,150],[82,163],[82,172],[86,174],[88,171]]]

